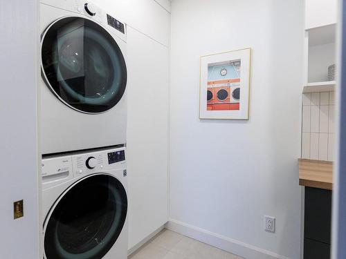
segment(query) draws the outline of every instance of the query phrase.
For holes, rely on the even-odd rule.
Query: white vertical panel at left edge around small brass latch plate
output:
[[[0,1],[0,258],[42,258],[37,153],[37,1]],[[13,202],[24,217],[13,219]]]

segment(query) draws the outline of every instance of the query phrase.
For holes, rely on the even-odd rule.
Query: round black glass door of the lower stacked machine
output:
[[[98,259],[118,239],[127,215],[127,195],[111,175],[83,178],[54,204],[44,225],[47,259]]]

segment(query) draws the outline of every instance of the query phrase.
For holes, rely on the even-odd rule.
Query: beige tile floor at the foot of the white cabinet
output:
[[[131,259],[242,259],[192,238],[164,229]]]

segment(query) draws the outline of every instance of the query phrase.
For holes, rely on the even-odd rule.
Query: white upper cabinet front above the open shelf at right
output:
[[[338,0],[305,0],[305,29],[336,23]]]

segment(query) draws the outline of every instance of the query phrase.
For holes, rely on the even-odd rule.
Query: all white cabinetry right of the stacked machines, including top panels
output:
[[[127,175],[133,251],[168,220],[169,2],[95,3],[127,23]]]

